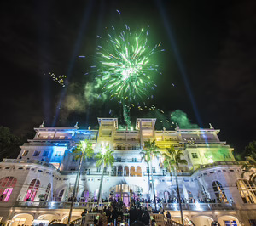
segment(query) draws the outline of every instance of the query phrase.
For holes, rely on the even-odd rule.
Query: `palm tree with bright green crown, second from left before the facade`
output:
[[[104,169],[106,167],[113,166],[113,161],[114,161],[113,150],[109,149],[109,147],[107,148],[102,147],[102,150],[95,155],[95,158],[98,159],[98,161],[96,161],[96,167],[101,167],[103,165],[102,178],[101,178],[101,184],[99,188],[98,201],[97,201],[97,203],[99,204],[101,200],[101,195],[102,195]]]

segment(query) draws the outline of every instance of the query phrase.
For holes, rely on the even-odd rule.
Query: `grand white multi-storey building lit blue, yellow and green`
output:
[[[241,165],[236,161],[232,148],[219,141],[219,130],[179,129],[154,130],[156,119],[137,119],[135,130],[120,130],[116,118],[98,118],[99,130],[79,127],[35,128],[36,135],[20,148],[17,159],[4,159],[0,163],[0,217],[2,223],[31,225],[33,220],[58,219],[67,221],[73,186],[79,161],[73,158],[72,149],[79,140],[93,143],[95,153],[108,144],[114,150],[115,162],[103,178],[102,197],[111,191],[128,203],[138,191],[144,198],[151,195],[148,186],[147,164],[140,154],[143,142],[156,140],[160,149],[171,145],[182,149],[188,165],[178,172],[178,186],[185,201],[185,222],[195,225],[254,225],[256,223],[256,186],[248,182],[248,175],[241,178]],[[88,201],[99,192],[102,168],[95,160],[82,166],[77,198]],[[154,188],[160,199],[177,196],[175,179],[162,167],[161,159],[153,161]],[[39,201],[44,195],[46,202]],[[220,203],[198,203],[206,198]],[[174,220],[179,220],[177,203],[165,204]],[[73,218],[79,218],[84,202],[76,203]],[[244,224],[241,224],[244,223]]]

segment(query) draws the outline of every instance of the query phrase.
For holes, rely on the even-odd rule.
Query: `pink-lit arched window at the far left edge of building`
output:
[[[5,177],[0,179],[0,201],[8,201],[12,194],[17,179],[14,177]]]

